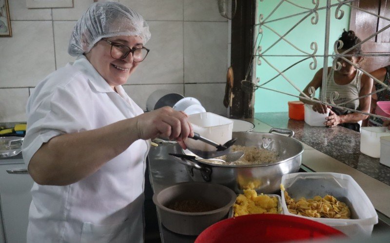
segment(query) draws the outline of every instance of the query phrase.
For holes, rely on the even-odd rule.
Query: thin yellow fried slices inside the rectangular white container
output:
[[[295,202],[295,200],[289,196],[289,193],[284,191],[284,197],[289,212],[293,214],[312,218],[351,218],[350,208],[331,195],[326,195],[324,197],[315,196],[313,199],[301,197]]]

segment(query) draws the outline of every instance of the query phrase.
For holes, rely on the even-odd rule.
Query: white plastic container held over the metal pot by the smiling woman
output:
[[[232,139],[233,121],[211,112],[196,113],[188,117],[195,133],[216,143],[224,144]],[[216,148],[200,140],[186,139],[185,144],[191,152],[202,157],[205,152],[216,151]],[[224,151],[222,151],[224,152]],[[219,156],[215,153],[215,157]]]

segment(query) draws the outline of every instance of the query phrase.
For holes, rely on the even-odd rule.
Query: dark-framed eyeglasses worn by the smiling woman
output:
[[[106,39],[102,40],[106,41],[108,44],[111,45],[111,57],[115,59],[123,59],[131,52],[133,54],[133,60],[135,62],[142,62],[150,51],[145,47],[131,49],[130,47],[123,44],[112,42]]]

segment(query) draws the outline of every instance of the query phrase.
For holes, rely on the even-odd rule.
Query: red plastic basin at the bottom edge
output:
[[[206,228],[195,243],[284,242],[345,237],[341,231],[313,220],[283,214],[249,214]]]

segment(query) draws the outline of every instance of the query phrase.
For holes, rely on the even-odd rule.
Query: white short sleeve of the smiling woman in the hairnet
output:
[[[58,87],[50,95],[37,94],[33,98],[27,108],[27,132],[22,143],[27,166],[42,144],[53,137],[89,130],[81,91],[77,87]]]

